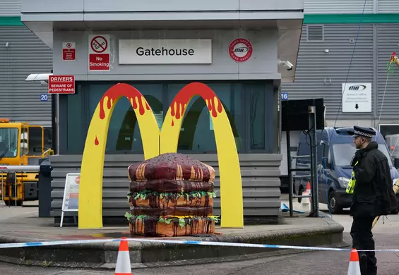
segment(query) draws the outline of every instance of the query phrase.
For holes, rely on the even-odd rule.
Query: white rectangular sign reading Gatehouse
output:
[[[212,39],[120,39],[119,64],[211,64]]]

